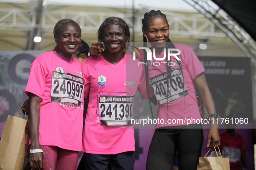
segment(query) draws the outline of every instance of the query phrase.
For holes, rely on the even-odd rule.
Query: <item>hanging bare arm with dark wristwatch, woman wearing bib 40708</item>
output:
[[[208,88],[207,81],[205,79],[204,73],[202,72],[194,78],[194,82],[200,92],[202,101],[209,115],[216,113],[214,101],[211,95],[211,91]],[[206,148],[217,148],[220,145],[220,135],[218,131],[217,120],[211,119],[211,129],[207,137]],[[212,143],[211,143],[212,140]]]

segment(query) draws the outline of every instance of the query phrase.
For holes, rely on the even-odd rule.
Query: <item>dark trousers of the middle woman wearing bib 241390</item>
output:
[[[133,170],[134,151],[120,154],[87,154],[84,153],[86,170]]]

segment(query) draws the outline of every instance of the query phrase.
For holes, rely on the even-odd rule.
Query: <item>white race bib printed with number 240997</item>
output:
[[[83,79],[65,72],[52,71],[51,102],[81,105],[83,99]]]

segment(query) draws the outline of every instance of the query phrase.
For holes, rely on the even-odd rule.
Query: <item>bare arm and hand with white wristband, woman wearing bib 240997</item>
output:
[[[37,95],[29,93],[29,134],[31,141],[31,149],[41,149],[39,144],[39,113],[41,98]],[[42,152],[30,153],[30,168],[43,170],[44,156]]]

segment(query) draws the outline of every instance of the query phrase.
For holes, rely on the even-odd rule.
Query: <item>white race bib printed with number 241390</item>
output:
[[[133,96],[99,96],[101,126],[132,126]]]

